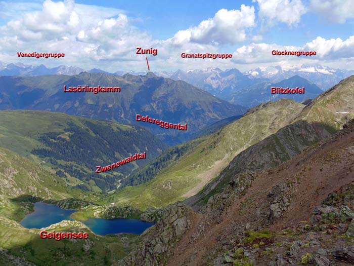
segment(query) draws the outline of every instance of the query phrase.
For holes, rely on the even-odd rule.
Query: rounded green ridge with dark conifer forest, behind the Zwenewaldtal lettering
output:
[[[0,114],[1,147],[58,171],[71,186],[84,190],[107,192],[116,189],[121,178],[167,148],[139,126],[48,111],[10,110],[0,111]],[[137,160],[115,171],[95,173],[98,165],[112,164],[145,151],[145,160]]]

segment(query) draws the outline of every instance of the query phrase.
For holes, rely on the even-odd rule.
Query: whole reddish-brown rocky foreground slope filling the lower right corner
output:
[[[236,174],[168,265],[351,265],[354,121],[288,162]]]

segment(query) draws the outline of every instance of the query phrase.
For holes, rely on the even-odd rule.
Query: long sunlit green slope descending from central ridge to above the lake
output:
[[[161,207],[197,193],[242,150],[291,121],[303,105],[283,99],[247,115],[206,138],[153,180],[125,187],[108,201],[135,208]]]

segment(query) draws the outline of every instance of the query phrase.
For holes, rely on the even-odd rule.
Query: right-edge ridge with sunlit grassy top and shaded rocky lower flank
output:
[[[254,107],[248,112],[257,109],[257,107]],[[299,113],[293,123],[236,156],[222,174],[215,178],[213,182],[210,182],[195,199],[189,199],[188,202],[195,204],[202,199],[206,203],[210,196],[222,191],[235,174],[246,170],[262,170],[285,162],[300,152],[300,150],[296,150],[298,147],[302,146],[304,148],[317,143],[321,138],[323,139],[341,129],[346,121],[353,118],[354,76],[343,80],[319,95]],[[286,145],[289,145],[289,147],[286,148]],[[274,150],[276,148],[283,148],[284,150]],[[292,150],[292,153],[289,154],[291,149],[295,150]],[[272,156],[269,156],[269,154],[274,154],[279,158],[276,158],[277,160],[272,164]],[[259,158],[255,160],[254,157],[257,155],[259,155]],[[281,158],[281,156],[285,156],[285,158]],[[263,165],[260,165],[264,158],[267,158],[266,161]],[[217,185],[215,185],[216,183]]]

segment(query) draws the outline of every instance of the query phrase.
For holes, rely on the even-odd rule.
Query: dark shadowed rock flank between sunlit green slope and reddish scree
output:
[[[278,166],[335,132],[335,128],[326,124],[306,121],[297,121],[285,126],[277,133],[242,151],[201,192],[186,199],[184,204],[199,210],[212,195],[222,191],[235,175],[251,175],[252,172]]]

